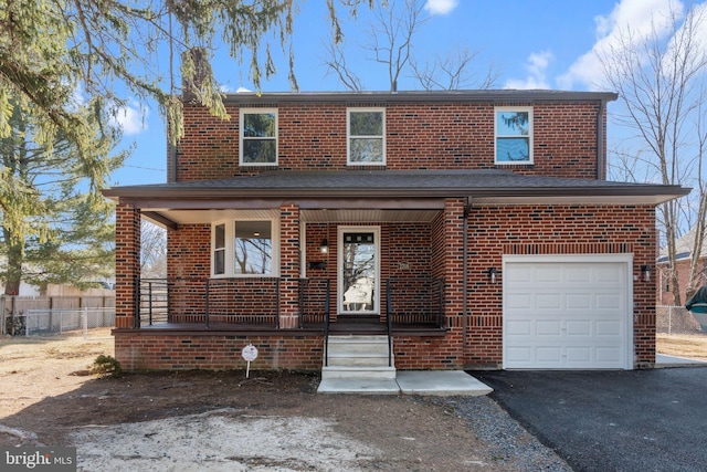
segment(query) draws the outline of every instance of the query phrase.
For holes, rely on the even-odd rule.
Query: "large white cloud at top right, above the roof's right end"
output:
[[[634,38],[641,38],[652,30],[658,34],[667,32],[669,21],[666,20],[671,11],[679,15],[683,10],[683,3],[678,0],[622,0],[616,3],[609,15],[594,19],[597,42],[591,51],[578,57],[558,77],[560,88],[602,88],[603,73],[599,54],[616,46],[621,34],[626,31],[631,31]]]

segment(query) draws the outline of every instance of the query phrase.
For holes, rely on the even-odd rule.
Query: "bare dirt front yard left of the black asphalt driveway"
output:
[[[453,400],[317,395],[318,375],[286,371],[96,378],[99,354],[108,331],[0,339],[0,444],[74,445],[78,470],[102,472],[567,470],[485,397],[476,416],[516,428],[486,432],[500,449]]]

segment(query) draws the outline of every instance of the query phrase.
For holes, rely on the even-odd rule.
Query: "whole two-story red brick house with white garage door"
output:
[[[655,361],[655,206],[605,177],[613,93],[233,94],[184,104],[168,182],[117,187],[116,358],[128,369],[320,369],[390,334],[398,369]],[[168,229],[149,324],[140,219]],[[148,289],[150,287],[150,289]],[[365,357],[365,353],[360,357]]]

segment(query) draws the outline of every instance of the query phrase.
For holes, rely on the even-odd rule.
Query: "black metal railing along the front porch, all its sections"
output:
[[[329,279],[298,279],[299,325],[328,331]],[[136,279],[136,328],[156,324],[279,326],[279,277]],[[435,277],[386,281],[386,321],[444,328],[444,282]]]

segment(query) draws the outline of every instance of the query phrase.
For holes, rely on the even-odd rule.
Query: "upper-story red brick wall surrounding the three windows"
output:
[[[595,178],[599,103],[498,103],[534,106],[535,165],[494,165],[494,104],[371,103],[386,107],[387,169],[492,169]],[[243,106],[251,107],[244,104]],[[346,169],[346,103],[281,103],[278,165],[284,170]],[[184,105],[178,181],[230,178],[264,168],[239,167],[239,107],[219,120]],[[367,167],[370,169],[370,167]]]

